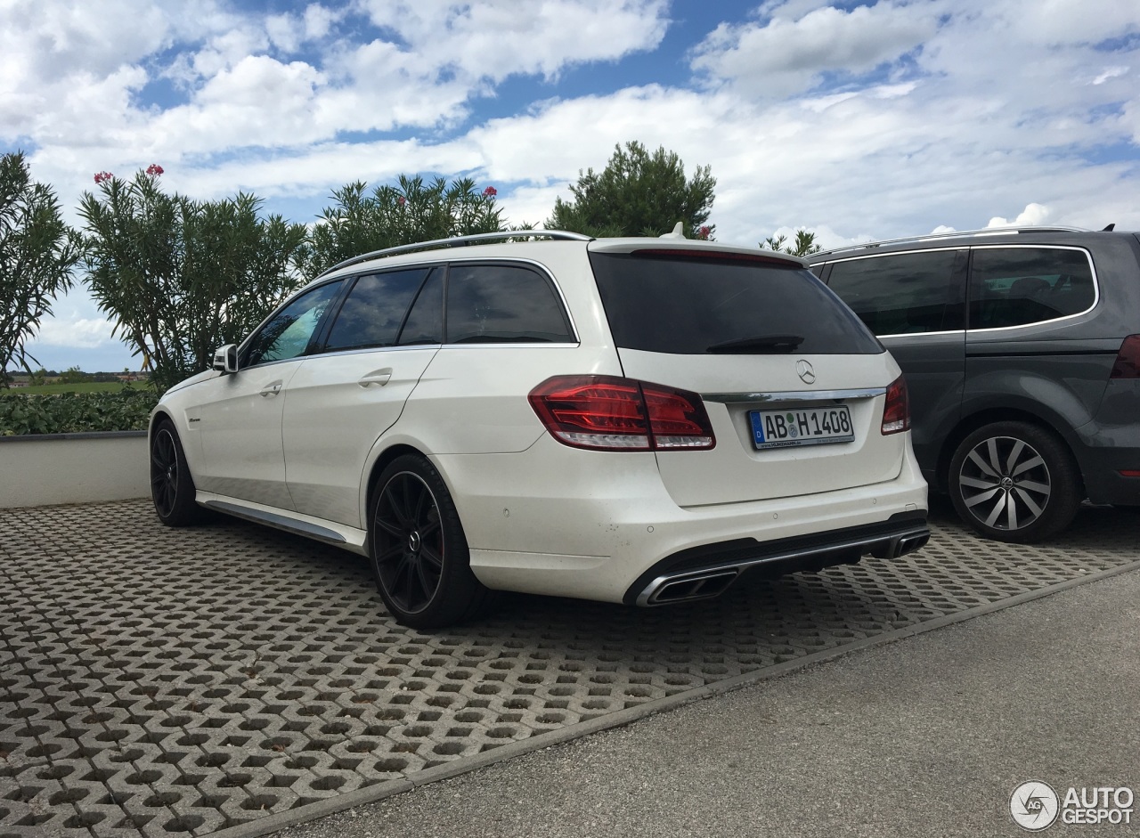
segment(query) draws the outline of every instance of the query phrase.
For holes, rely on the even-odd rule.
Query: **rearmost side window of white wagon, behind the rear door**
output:
[[[450,267],[448,343],[571,341],[562,303],[537,270],[516,265]]]

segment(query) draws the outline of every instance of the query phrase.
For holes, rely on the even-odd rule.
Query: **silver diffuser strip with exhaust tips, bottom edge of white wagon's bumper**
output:
[[[930,540],[930,530],[911,531],[855,543],[837,543],[813,550],[798,550],[736,561],[701,570],[662,573],[637,595],[638,605],[671,605],[676,602],[709,600],[723,594],[746,570],[765,571],[772,578],[798,571],[816,571],[837,564],[853,564],[866,554],[895,559],[920,550]]]

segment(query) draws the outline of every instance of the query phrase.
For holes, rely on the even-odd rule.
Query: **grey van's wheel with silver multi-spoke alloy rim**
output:
[[[995,422],[963,439],[947,485],[959,516],[979,535],[1021,544],[1068,527],[1083,494],[1065,444],[1026,422]]]

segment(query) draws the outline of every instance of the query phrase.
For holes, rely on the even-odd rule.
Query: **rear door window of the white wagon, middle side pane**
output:
[[[396,345],[404,315],[425,268],[369,274],[356,280],[325,341],[325,351]]]

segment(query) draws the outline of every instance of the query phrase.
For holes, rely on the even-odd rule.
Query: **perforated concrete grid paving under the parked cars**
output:
[[[365,560],[148,503],[0,511],[0,838],[207,835],[1140,559],[1086,507],[1049,546],[951,515],[917,554],[705,603],[511,597],[438,634]]]

